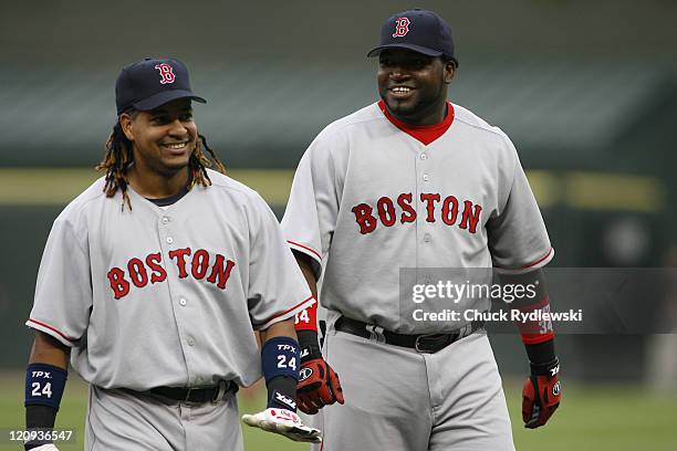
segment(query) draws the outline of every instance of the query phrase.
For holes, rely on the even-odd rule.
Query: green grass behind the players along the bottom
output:
[[[23,373],[2,373],[0,384],[0,429],[22,429]],[[564,384],[562,406],[551,422],[545,428],[525,430],[520,418],[521,382],[506,382],[506,396],[518,450],[677,450],[677,394],[660,396],[639,386],[628,385],[581,385],[573,381]],[[60,445],[62,451],[82,450],[86,392],[86,384],[76,376],[71,376],[56,428],[74,429],[77,443]],[[240,408],[243,412],[258,411],[263,403],[262,397],[240,397]],[[248,451],[308,449],[306,445],[248,427],[243,427],[243,432],[244,449]],[[7,438],[2,439],[2,443],[4,444],[0,444],[0,450],[23,449],[6,444]]]

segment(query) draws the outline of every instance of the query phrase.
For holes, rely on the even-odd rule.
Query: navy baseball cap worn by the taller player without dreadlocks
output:
[[[381,41],[367,56],[386,49],[408,49],[428,56],[454,56],[451,28],[433,11],[415,8],[390,15],[381,28]]]

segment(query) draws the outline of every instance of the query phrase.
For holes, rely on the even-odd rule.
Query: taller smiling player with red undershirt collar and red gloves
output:
[[[323,450],[513,450],[482,323],[400,315],[399,270],[499,268],[539,282],[537,302],[520,308],[548,310],[539,269],[553,250],[541,213],[508,136],[447,101],[458,62],[441,18],[390,17],[369,56],[381,101],[313,140],[282,221],[313,292],[323,272],[323,354],[345,392],[319,413]],[[534,428],[559,405],[559,363],[550,324],[521,331]]]

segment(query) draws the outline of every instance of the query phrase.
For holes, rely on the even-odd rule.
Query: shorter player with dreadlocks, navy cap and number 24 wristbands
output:
[[[241,450],[235,392],[262,375],[268,407],[244,422],[319,441],[295,413],[294,315],[314,298],[275,217],[198,134],[181,62],[131,64],[115,95],[105,177],[56,218],[40,265],[28,429],[53,428],[70,358],[90,382],[86,450]]]

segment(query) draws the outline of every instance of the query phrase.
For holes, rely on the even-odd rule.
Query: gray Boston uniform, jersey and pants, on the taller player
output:
[[[510,139],[448,107],[450,127],[424,145],[369,105],[327,126],[299,164],[282,228],[322,272],[323,354],[345,392],[345,405],[315,416],[324,451],[514,450],[486,335],[423,354],[384,345],[375,328],[363,338],[334,327],[345,315],[403,334],[447,332],[465,323],[402,314],[402,268],[521,270],[552,259]]]

